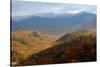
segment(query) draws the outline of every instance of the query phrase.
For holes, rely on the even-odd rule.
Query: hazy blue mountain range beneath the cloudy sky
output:
[[[75,14],[50,13],[21,18],[23,17],[12,19],[12,31],[38,30],[48,34],[61,35],[65,32],[96,29],[96,14],[86,11]]]

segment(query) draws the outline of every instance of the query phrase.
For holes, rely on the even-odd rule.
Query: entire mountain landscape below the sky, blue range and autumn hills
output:
[[[96,15],[82,11],[12,18],[11,41],[12,65],[95,61]]]

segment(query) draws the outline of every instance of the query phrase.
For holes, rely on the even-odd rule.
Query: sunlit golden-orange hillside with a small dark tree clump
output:
[[[29,55],[51,47],[56,37],[37,31],[12,32],[11,61],[17,64]]]

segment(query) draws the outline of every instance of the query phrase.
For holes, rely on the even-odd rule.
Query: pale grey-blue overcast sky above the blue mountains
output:
[[[64,13],[79,13],[87,11],[96,13],[94,5],[75,5],[75,4],[60,4],[60,3],[43,3],[33,1],[12,1],[12,17],[19,16],[36,16],[41,14],[64,14]]]

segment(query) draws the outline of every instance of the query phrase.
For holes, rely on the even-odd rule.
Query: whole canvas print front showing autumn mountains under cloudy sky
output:
[[[96,6],[12,1],[11,66],[96,61]]]

